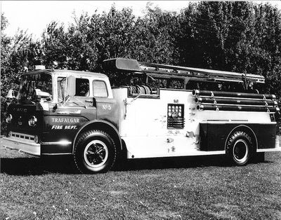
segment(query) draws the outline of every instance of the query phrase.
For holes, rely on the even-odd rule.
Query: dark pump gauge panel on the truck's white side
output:
[[[184,105],[183,104],[168,104],[167,109],[168,129],[183,129],[185,124]]]

